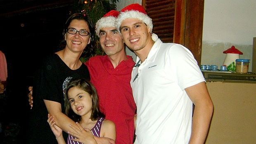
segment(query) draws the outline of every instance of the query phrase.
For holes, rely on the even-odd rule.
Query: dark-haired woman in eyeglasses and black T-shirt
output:
[[[62,128],[64,133],[75,132],[70,125],[79,129],[76,123],[64,114],[64,94],[71,78],[90,80],[88,68],[80,57],[84,50],[94,44],[93,31],[94,25],[89,17],[80,13],[71,15],[64,26],[64,49],[48,55],[43,60],[33,83],[34,104],[29,114],[27,144],[57,143],[46,121],[48,113],[55,118],[55,124]],[[95,139],[102,141],[97,137]],[[108,139],[103,139],[103,142],[109,143]]]

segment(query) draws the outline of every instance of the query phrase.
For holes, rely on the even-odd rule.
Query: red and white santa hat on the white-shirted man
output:
[[[150,33],[152,33],[152,19],[149,16],[147,16],[147,12],[140,4],[135,3],[128,5],[120,11],[120,14],[117,18],[117,28],[119,29],[122,21],[128,18],[136,18],[143,21],[145,24],[147,24],[148,28],[150,29]]]

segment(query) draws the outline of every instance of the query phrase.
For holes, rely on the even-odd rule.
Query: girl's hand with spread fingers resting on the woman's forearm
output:
[[[88,128],[83,128],[79,123],[76,123],[76,125],[79,127],[79,129],[73,125],[69,125],[73,130],[76,131],[76,133],[68,132],[70,135],[76,137],[76,139],[72,139],[73,141],[82,142],[83,144],[97,144],[92,132]]]

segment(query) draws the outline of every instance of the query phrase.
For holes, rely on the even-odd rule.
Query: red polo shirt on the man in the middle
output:
[[[135,62],[132,57],[127,58],[116,68],[107,55],[92,57],[85,63],[99,95],[100,110],[116,124],[116,144],[133,144],[135,130],[136,105],[130,86]]]

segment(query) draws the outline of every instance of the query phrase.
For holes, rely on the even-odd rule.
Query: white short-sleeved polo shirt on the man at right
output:
[[[205,81],[197,61],[186,47],[157,39],[139,64],[137,57],[131,78],[137,105],[135,144],[187,144],[192,101],[185,88]]]

